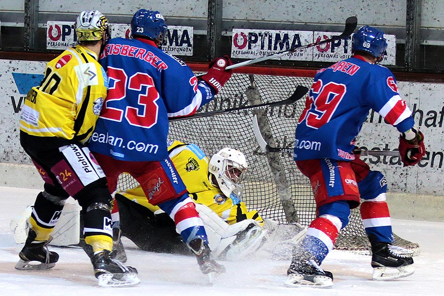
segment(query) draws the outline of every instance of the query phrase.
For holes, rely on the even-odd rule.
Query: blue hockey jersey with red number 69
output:
[[[354,56],[319,70],[296,127],[294,159],[354,159],[353,139],[370,109],[400,132],[414,125],[387,68]]]

